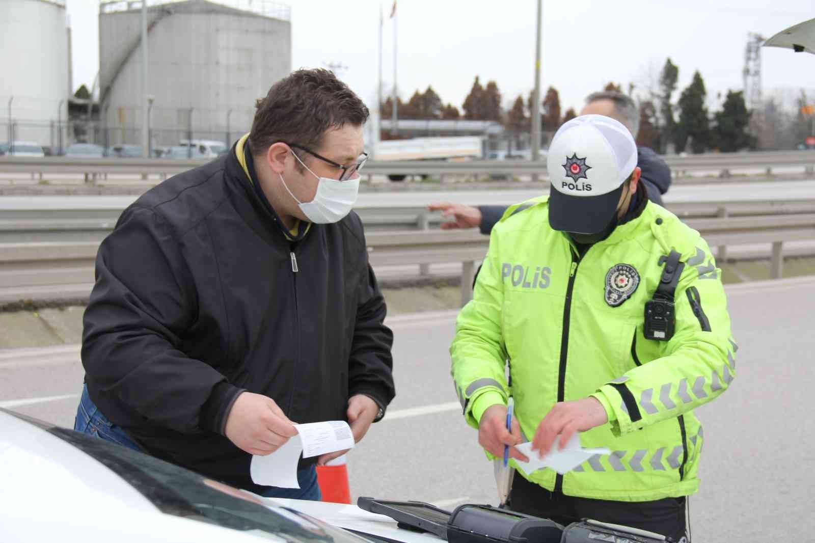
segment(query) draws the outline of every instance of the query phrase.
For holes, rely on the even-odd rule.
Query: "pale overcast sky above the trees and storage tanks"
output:
[[[368,104],[376,103],[380,7],[384,12],[382,72],[394,81],[393,2],[290,0],[292,67],[346,66],[339,73]],[[679,67],[679,91],[702,73],[708,104],[742,89],[747,33],[769,38],[808,20],[812,0],[565,0],[543,2],[541,85],[560,92],[562,111],[614,81],[644,90],[665,59]],[[73,26],[73,84],[90,86],[99,69],[97,0],[67,0]],[[534,86],[535,0],[399,0],[398,87],[402,99],[432,85],[460,108],[476,75],[496,80],[509,105]],[[764,48],[765,93],[815,87],[815,55]],[[271,83],[271,82],[270,82]],[[390,92],[390,91],[388,91]],[[543,94],[543,91],[542,91]],[[676,95],[678,97],[679,92]]]

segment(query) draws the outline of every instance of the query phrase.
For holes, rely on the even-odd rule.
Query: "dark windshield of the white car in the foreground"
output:
[[[29,417],[26,420],[34,422]],[[252,532],[274,541],[292,543],[366,543],[295,510],[264,505],[258,497],[196,475],[192,471],[92,438],[73,430],[42,426],[52,435],[81,449],[125,479],[162,513],[210,523],[240,532]]]

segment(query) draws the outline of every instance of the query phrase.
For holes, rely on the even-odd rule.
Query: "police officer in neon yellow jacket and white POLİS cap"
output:
[[[610,449],[566,475],[519,471],[513,510],[680,541],[699,483],[694,408],[735,374],[720,271],[698,232],[645,196],[619,121],[567,122],[547,160],[549,196],[504,214],[458,317],[452,375],[466,421],[488,456],[509,445],[512,463],[526,460],[513,446],[527,437],[540,455],[575,432]]]

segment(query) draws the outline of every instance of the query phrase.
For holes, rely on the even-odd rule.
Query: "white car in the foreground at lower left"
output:
[[[259,497],[2,408],[0,429],[3,543],[440,541],[355,505]]]

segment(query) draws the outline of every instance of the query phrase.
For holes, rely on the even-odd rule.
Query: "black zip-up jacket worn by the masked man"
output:
[[[82,364],[91,400],[148,453],[261,492],[222,435],[240,391],[294,422],[346,420],[355,394],[386,406],[393,335],[359,217],[292,242],[253,187],[233,148],[121,214],[96,258]]]

